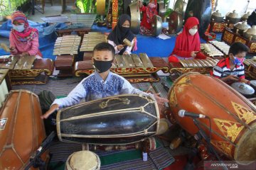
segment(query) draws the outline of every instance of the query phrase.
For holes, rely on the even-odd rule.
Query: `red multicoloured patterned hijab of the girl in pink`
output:
[[[25,14],[21,11],[15,11],[11,14],[11,23],[14,24],[14,21],[18,21],[18,23],[24,23],[24,30],[19,33],[18,31],[11,29],[11,34],[14,35],[16,40],[19,42],[28,42],[29,40],[33,40],[33,38],[38,37],[38,30],[36,28],[31,28],[28,25],[28,19]]]

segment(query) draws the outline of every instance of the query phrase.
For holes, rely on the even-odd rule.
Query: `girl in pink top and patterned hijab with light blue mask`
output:
[[[11,14],[11,23],[13,25],[9,37],[11,55],[34,55],[41,58],[42,54],[38,49],[38,30],[28,25],[25,14],[15,11]]]

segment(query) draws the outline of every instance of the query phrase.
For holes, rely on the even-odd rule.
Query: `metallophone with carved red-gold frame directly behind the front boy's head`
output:
[[[161,57],[148,57],[146,53],[138,55],[115,55],[111,72],[122,75],[129,82],[159,81],[156,72],[169,72],[169,65]],[[92,60],[75,63],[75,76],[90,75],[95,71]]]

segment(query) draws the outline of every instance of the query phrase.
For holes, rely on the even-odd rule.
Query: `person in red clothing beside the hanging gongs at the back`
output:
[[[143,6],[142,1],[139,1],[139,11],[142,11],[142,22],[140,33],[142,35],[152,35],[151,23],[154,15],[157,15],[157,1],[150,0],[148,6]]]

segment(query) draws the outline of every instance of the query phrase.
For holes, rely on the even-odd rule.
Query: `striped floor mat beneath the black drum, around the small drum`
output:
[[[142,160],[142,152],[137,149],[123,151],[95,151],[100,157],[100,169],[164,169],[174,162],[174,157],[156,139],[156,149],[148,155],[148,160]],[[78,143],[54,142],[50,147],[52,159],[50,169],[64,169],[65,161],[73,152],[82,150]]]

